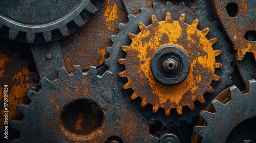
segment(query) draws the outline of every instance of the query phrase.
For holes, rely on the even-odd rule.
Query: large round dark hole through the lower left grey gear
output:
[[[78,135],[93,132],[101,126],[102,121],[101,108],[95,102],[86,99],[71,102],[61,113],[62,126]]]

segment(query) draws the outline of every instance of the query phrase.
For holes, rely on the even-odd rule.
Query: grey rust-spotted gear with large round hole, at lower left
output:
[[[75,66],[72,74],[61,68],[53,82],[42,79],[41,90],[38,93],[30,90],[27,94],[30,105],[18,106],[25,117],[23,121],[13,121],[13,128],[20,131],[20,138],[14,142],[105,142],[111,136],[118,136],[123,142],[157,142],[149,133],[147,120],[122,97],[114,82],[110,71],[98,76],[96,67],[83,73],[79,66]],[[103,115],[101,125],[89,134],[67,130],[69,126],[62,120],[68,105],[81,99],[94,102],[96,114]],[[94,124],[88,124],[86,129],[91,130]],[[77,125],[74,126],[79,128]]]

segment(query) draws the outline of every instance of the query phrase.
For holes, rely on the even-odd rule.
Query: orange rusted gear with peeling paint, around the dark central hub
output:
[[[182,114],[182,107],[188,106],[195,109],[194,101],[205,103],[203,93],[214,93],[210,83],[219,81],[215,75],[215,69],[222,67],[215,57],[222,51],[214,51],[212,44],[216,38],[208,40],[205,36],[209,28],[202,31],[197,29],[199,20],[194,20],[191,25],[185,23],[185,14],[178,21],[172,20],[167,13],[164,21],[158,21],[152,16],[152,25],[145,26],[139,22],[141,32],[138,35],[130,33],[132,43],[130,46],[122,46],[127,53],[126,58],[119,59],[120,64],[125,65],[125,71],[119,73],[120,77],[127,77],[128,83],[124,89],[132,88],[134,93],[131,99],[142,99],[141,107],[147,103],[153,105],[153,112],[159,107],[165,108],[165,114],[169,115],[171,108],[176,108]],[[156,79],[151,68],[154,53],[159,47],[174,45],[181,47],[189,55],[190,66],[187,76],[177,84],[164,84]]]

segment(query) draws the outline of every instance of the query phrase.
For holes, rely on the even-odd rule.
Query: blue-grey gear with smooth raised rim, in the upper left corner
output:
[[[66,37],[87,23],[104,0],[26,0],[0,2],[0,33],[12,40],[46,43]],[[43,3],[43,4],[42,4]],[[43,7],[45,6],[45,7]]]

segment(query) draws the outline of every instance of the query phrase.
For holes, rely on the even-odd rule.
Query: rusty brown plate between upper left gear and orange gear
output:
[[[113,0],[105,1],[86,25],[74,35],[60,41],[61,50],[67,70],[73,71],[79,64],[82,70],[90,65],[99,66],[108,58],[105,47],[111,46],[111,35],[118,33],[118,24],[127,21],[123,3]]]

